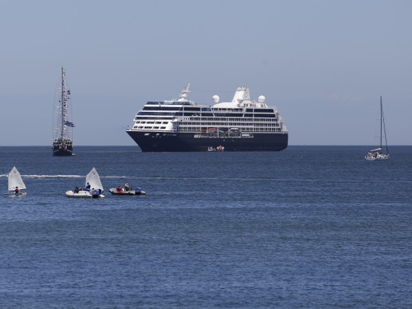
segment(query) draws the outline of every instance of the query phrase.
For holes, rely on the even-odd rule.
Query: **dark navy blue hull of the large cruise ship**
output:
[[[253,137],[195,137],[196,133],[164,131],[127,131],[142,152],[207,151],[225,147],[225,151],[280,151],[288,146],[288,133],[253,133]]]

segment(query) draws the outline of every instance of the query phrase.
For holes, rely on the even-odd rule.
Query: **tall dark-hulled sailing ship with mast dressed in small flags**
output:
[[[53,155],[73,155],[73,127],[71,121],[70,90],[67,89],[66,70],[62,67],[61,88],[56,90],[53,119]]]

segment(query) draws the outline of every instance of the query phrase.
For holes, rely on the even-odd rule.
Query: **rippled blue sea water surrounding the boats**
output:
[[[0,147],[27,186],[0,196],[0,308],[411,308],[412,146],[367,150]],[[67,198],[93,167],[106,198]]]

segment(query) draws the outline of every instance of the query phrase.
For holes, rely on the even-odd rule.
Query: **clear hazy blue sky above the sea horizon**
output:
[[[290,145],[412,145],[412,1],[0,1],[0,146],[52,144],[60,69],[78,145],[135,145],[148,100],[249,87]]]

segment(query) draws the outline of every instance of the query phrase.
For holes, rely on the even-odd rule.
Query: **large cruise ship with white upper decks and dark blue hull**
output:
[[[180,98],[149,101],[126,130],[143,152],[280,151],[288,146],[288,129],[277,107],[260,95],[251,100],[249,88],[239,87],[231,102],[196,104],[190,84]]]

